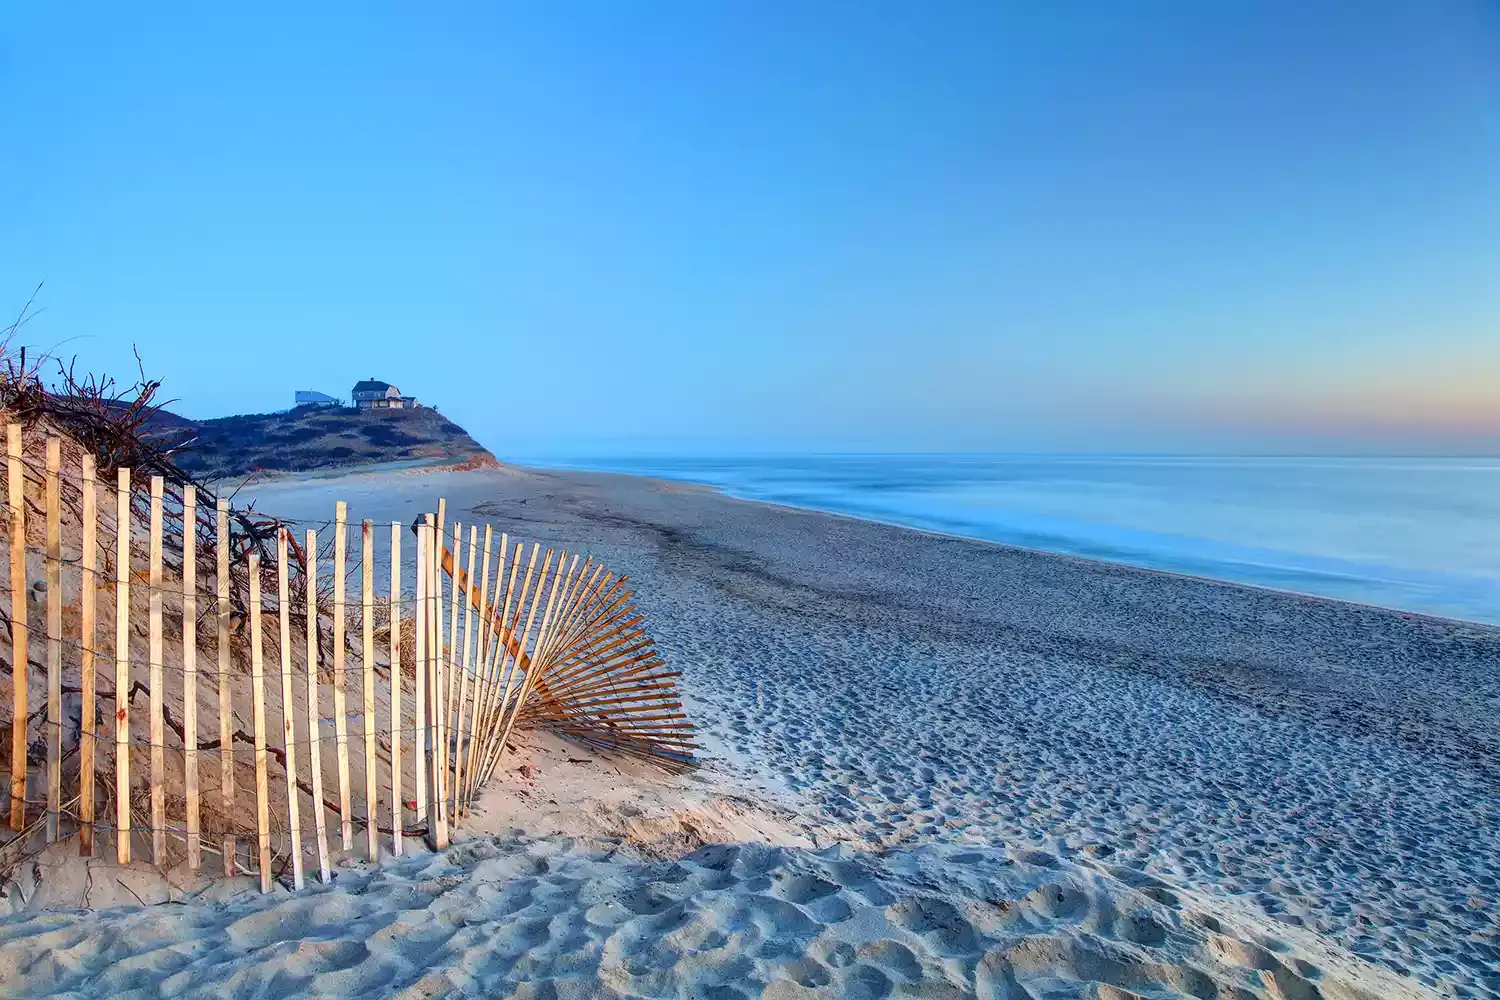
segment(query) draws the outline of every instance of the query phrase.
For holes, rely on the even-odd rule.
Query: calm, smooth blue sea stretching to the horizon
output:
[[[1500,624],[1500,459],[861,454],[550,465]]]

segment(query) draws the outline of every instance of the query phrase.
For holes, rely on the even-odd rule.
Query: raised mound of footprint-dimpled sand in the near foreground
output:
[[[1035,852],[648,861],[482,838],[296,897],[4,922],[0,979],[87,997],[1419,996],[1134,883]]]

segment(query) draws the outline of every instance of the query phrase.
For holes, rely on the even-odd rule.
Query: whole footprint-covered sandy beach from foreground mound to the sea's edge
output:
[[[298,895],[39,868],[6,993],[1500,997],[1500,630],[618,475],[250,495],[622,568],[704,765],[530,736],[450,852]]]

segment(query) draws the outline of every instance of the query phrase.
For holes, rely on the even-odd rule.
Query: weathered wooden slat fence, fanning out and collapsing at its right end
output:
[[[446,847],[520,727],[692,763],[678,675],[626,577],[594,559],[528,550],[490,525],[465,543],[441,502],[392,522],[384,543],[360,522],[354,562],[344,502],[322,550],[316,528],[297,537],[285,522],[272,549],[231,532],[224,499],[201,511],[192,486],[152,477],[140,490],[123,468],[111,490],[92,454],[64,471],[62,445],[45,441],[38,471],[8,427],[10,831],[76,835],[86,856],[111,835],[120,864],[148,849],[153,864],[201,870],[216,853],[262,891],[286,868],[302,888],[304,865],[328,880],[330,847]],[[38,664],[30,604],[45,604]],[[38,675],[45,714],[30,709]]]

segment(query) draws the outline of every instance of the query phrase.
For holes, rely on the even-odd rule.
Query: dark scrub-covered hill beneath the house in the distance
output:
[[[188,420],[160,412],[154,430],[192,436],[177,453],[183,471],[206,480],[266,472],[304,472],[381,462],[495,465],[464,427],[435,409],[357,411],[303,406],[279,414]]]

